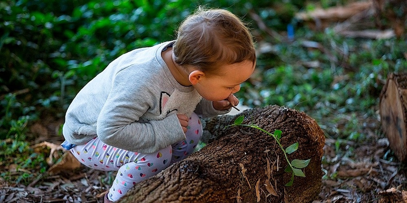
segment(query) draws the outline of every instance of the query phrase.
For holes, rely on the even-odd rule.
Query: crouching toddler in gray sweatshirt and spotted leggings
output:
[[[253,38],[222,9],[199,8],[175,41],[113,60],[73,99],[61,145],[83,164],[117,171],[105,202],[192,153],[200,117],[225,114],[254,71]]]

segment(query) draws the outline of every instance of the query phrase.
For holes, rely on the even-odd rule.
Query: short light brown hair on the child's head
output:
[[[179,26],[173,52],[175,63],[194,66],[206,73],[220,65],[256,61],[253,37],[243,22],[223,9],[204,9],[188,16]]]

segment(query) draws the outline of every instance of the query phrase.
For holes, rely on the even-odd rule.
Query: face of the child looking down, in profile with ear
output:
[[[250,60],[219,67],[217,75],[205,75],[195,85],[197,92],[209,101],[221,101],[240,90],[240,84],[249,79],[255,64]]]

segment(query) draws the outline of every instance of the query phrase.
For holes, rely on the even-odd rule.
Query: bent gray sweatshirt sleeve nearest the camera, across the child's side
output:
[[[126,71],[125,71],[126,70]],[[129,68],[117,73],[112,89],[98,116],[96,132],[104,143],[128,151],[153,153],[185,139],[176,114],[162,120],[139,122],[154,108],[151,86]],[[131,76],[133,75],[133,76]]]

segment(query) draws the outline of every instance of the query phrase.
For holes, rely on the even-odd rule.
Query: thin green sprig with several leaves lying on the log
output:
[[[280,138],[281,138],[281,133],[282,133],[281,130],[275,130],[274,133],[270,133],[267,130],[264,130],[263,128],[259,127],[256,124],[253,124],[253,123],[242,124],[244,119],[245,119],[244,115],[239,116],[237,119],[234,120],[234,123],[232,125],[228,125],[226,127],[230,127],[230,126],[253,127],[253,128],[256,128],[257,130],[265,132],[269,136],[273,137],[276,140],[278,146],[280,146],[281,150],[283,151],[284,157],[288,163],[288,166],[284,169],[284,171],[287,173],[291,173],[291,180],[287,184],[285,184],[285,186],[293,185],[294,176],[305,177],[304,172],[302,172],[302,170],[300,168],[305,168],[306,166],[308,166],[310,159],[308,159],[308,160],[295,159],[290,162],[290,160],[288,159],[288,156],[287,156],[287,154],[291,154],[291,153],[297,151],[298,143],[294,143],[294,144],[290,145],[289,147],[287,147],[286,149],[284,149],[284,147],[282,147],[282,145],[280,143]]]

